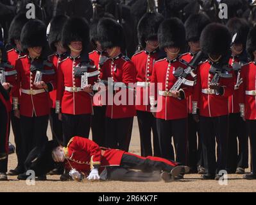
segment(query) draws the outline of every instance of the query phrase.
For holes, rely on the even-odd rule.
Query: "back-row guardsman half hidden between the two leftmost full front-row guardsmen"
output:
[[[53,63],[53,66],[58,72],[60,61],[64,60],[67,56],[67,49],[63,47],[62,28],[67,21],[68,17],[65,15],[58,15],[54,17],[50,22],[48,43],[51,50],[54,52],[48,56],[48,60]],[[58,119],[58,113],[56,113],[56,90],[49,92],[50,96],[50,108],[51,113],[49,115],[49,122],[51,125],[51,133],[53,133],[53,139],[57,140],[60,144],[63,144],[63,132],[62,121]]]

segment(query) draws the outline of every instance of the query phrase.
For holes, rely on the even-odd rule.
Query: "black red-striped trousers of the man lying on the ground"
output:
[[[171,170],[177,165],[174,161],[165,163],[159,158],[140,158],[133,154],[123,154],[120,167],[108,167],[107,179],[115,181],[159,181],[160,172]],[[134,170],[141,170],[136,172]],[[154,172],[157,171],[157,172]]]

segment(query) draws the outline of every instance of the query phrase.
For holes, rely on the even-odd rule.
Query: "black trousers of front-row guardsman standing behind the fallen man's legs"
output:
[[[187,165],[187,118],[177,120],[157,119],[157,133],[160,146],[160,157],[175,160],[171,136],[176,150],[176,160]]]

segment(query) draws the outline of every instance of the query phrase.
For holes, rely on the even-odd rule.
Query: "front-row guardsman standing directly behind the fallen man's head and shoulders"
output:
[[[73,17],[67,20],[62,29],[62,44],[69,55],[58,68],[56,113],[62,120],[64,145],[67,145],[74,135],[89,136],[92,86],[98,77],[89,77],[92,68],[89,68],[87,53],[89,25],[85,19]]]

